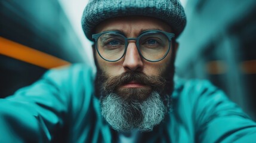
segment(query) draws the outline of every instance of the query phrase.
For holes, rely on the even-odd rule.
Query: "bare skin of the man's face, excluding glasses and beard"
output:
[[[118,17],[111,18],[109,20],[100,23],[95,33],[100,33],[109,30],[118,30],[124,33],[128,38],[136,38],[144,30],[163,30],[165,32],[172,32],[171,27],[164,21],[158,20],[157,18],[141,17],[141,16],[129,16],[129,17]],[[177,48],[177,45],[175,45]],[[98,67],[102,70],[106,76],[117,76],[128,70],[141,71],[148,76],[161,76],[166,67],[168,66],[171,59],[171,51],[162,61],[155,63],[144,60],[140,57],[137,51],[135,41],[129,41],[128,49],[125,57],[116,62],[109,62],[103,60],[98,53],[95,53],[95,60],[97,61]],[[140,85],[127,85],[127,87],[139,88]]]

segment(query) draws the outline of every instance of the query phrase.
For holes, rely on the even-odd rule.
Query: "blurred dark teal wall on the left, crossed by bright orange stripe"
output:
[[[55,0],[1,0],[0,36],[67,63],[85,62],[81,41],[70,25],[63,8]],[[11,45],[0,44],[0,50],[4,52],[14,50]],[[16,52],[16,55],[19,57],[22,53]],[[33,54],[35,53],[31,52],[26,56],[30,57]],[[32,61],[39,60],[38,58],[35,56]],[[47,61],[47,58],[41,62],[44,64],[55,62]],[[48,68],[0,54],[0,98],[32,84],[46,70]]]

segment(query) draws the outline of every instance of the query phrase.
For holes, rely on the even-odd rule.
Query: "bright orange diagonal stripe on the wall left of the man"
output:
[[[54,57],[53,55],[45,54],[44,52],[29,48],[2,37],[0,37],[0,54],[25,61],[26,63],[34,64],[39,67],[44,67],[45,69],[67,66],[70,64],[69,62]]]

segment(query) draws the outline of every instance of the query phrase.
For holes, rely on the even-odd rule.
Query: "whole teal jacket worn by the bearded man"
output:
[[[76,64],[1,99],[0,142],[115,142],[93,82]],[[140,142],[256,142],[256,124],[208,81],[176,80],[172,111]]]

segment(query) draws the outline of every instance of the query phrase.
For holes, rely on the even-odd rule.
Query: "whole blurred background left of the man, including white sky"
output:
[[[92,64],[91,44],[81,28],[86,4],[83,0],[0,0],[1,98],[32,84],[48,69]]]

